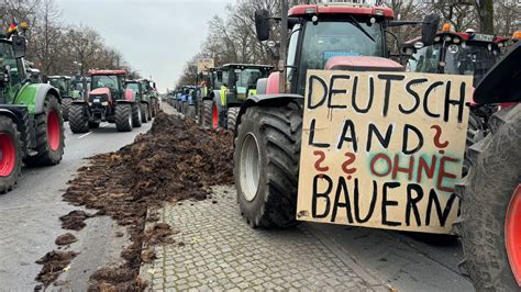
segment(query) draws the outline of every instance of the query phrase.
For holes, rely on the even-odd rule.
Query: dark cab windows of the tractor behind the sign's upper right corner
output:
[[[445,56],[445,74],[472,75],[477,83],[498,58],[499,52],[489,49],[488,43],[451,45]]]

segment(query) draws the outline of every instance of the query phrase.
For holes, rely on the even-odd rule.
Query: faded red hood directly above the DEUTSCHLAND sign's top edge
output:
[[[325,64],[325,70],[404,71],[400,64],[380,57],[336,56]]]

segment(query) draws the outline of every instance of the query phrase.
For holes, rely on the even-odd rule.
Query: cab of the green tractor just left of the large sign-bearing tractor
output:
[[[222,85],[228,89],[228,106],[241,104],[257,94],[257,81],[267,78],[274,69],[269,65],[228,64],[221,67]]]

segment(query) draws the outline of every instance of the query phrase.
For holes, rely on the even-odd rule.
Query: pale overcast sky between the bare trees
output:
[[[208,21],[234,0],[56,0],[62,18],[96,29],[162,92],[173,88],[199,52]]]

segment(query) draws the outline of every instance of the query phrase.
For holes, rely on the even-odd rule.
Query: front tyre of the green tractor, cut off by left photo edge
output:
[[[16,181],[22,173],[22,157],[23,157],[23,149],[22,149],[22,135],[16,128],[16,124],[9,117],[0,115],[0,139],[3,135],[7,135],[10,138],[11,149],[14,150],[14,167],[12,168],[10,173],[3,173],[0,177],[0,193],[7,193],[11,191],[14,186],[16,186]],[[0,147],[8,146],[7,144],[0,145]],[[1,170],[1,169],[0,169]],[[8,170],[9,171],[9,170]]]

